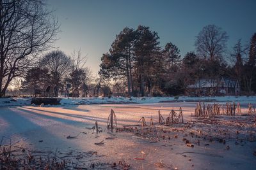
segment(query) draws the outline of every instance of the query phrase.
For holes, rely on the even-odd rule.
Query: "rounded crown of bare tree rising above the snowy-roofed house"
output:
[[[225,51],[227,32],[216,25],[207,25],[196,36],[195,46],[199,55],[211,60],[218,59]]]

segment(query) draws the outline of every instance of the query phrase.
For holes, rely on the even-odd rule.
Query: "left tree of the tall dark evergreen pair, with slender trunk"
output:
[[[102,56],[100,74],[114,80],[125,78],[127,81],[128,94],[132,94],[132,55],[135,38],[134,29],[125,27],[111,45],[108,55]]]

